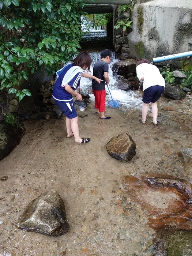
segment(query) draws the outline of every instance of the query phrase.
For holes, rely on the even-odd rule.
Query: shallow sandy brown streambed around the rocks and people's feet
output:
[[[163,110],[168,106],[176,110]],[[120,185],[133,173],[192,178],[192,170],[185,170],[177,155],[180,148],[192,146],[192,104],[162,97],[158,127],[150,118],[141,125],[140,110],[106,111],[109,121],[100,120],[93,105],[86,110],[88,116],[79,118],[80,134],[91,138],[86,145],[65,138],[64,118],[25,122],[22,142],[0,162],[0,177],[8,175],[7,181],[0,181],[0,255],[150,255],[145,250],[155,231],[136,203],[122,212]],[[136,156],[128,163],[111,158],[105,149],[122,132],[137,144]],[[64,200],[69,233],[47,237],[17,229],[26,205],[52,188]]]

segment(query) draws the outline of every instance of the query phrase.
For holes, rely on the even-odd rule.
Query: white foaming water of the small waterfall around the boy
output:
[[[101,60],[100,53],[99,52],[90,52],[90,56],[92,59],[91,64],[91,74],[93,74],[93,67],[94,64]],[[113,64],[117,62],[118,60],[115,57],[115,53],[112,53],[112,61],[109,65],[109,90],[111,91],[112,98],[114,100],[117,100],[120,102],[120,107],[123,110],[126,110],[128,108],[134,108],[134,109],[141,109],[143,102],[140,97],[138,97],[138,93],[132,90],[129,91],[122,91],[117,89],[117,81],[118,76],[113,71]],[[90,98],[94,101],[95,97],[91,93],[91,79],[82,78],[80,83],[80,88],[84,93],[90,94]],[[106,87],[106,92],[108,92],[108,88]],[[107,101],[111,100],[110,94],[107,96]]]

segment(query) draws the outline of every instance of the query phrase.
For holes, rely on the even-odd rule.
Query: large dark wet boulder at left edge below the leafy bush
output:
[[[24,134],[24,127],[17,128],[8,124],[0,125],[0,161],[18,146]]]

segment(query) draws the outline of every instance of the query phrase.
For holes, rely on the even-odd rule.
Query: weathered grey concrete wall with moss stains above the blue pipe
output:
[[[151,60],[192,50],[192,0],[136,4],[132,20],[133,31],[128,35],[131,57]]]

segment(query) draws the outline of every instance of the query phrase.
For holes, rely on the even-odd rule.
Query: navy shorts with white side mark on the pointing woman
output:
[[[55,104],[61,109],[63,114],[67,116],[69,119],[77,117],[77,112],[75,110],[74,101],[57,101],[54,99]]]

